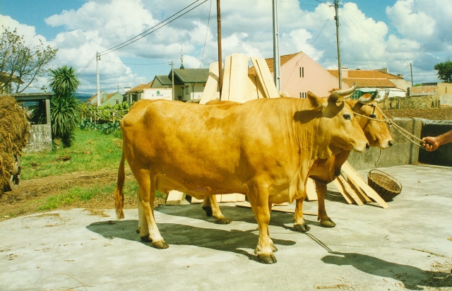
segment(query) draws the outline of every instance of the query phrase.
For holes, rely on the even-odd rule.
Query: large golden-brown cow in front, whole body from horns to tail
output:
[[[198,199],[241,193],[248,196],[258,223],[255,253],[263,263],[275,263],[277,249],[268,233],[271,204],[304,198],[309,169],[317,158],[369,148],[352,109],[343,102],[354,90],[241,105],[136,102],[121,120],[118,218],[124,218],[127,160],[138,182],[138,231],[143,240],[159,249],[168,247],[153,215],[155,189],[175,189]]]

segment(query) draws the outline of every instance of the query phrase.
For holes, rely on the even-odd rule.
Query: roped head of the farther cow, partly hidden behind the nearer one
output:
[[[359,97],[359,100],[347,100],[347,103],[352,107],[353,112],[364,115],[365,117],[360,117],[356,115],[356,119],[361,126],[364,134],[369,141],[370,146],[379,147],[382,150],[386,148],[391,148],[393,145],[393,138],[391,133],[389,133],[388,126],[386,126],[383,121],[383,116],[378,107],[379,102],[384,102],[388,98],[389,91],[382,97],[378,96],[378,90],[375,91],[373,95],[364,94]],[[367,119],[370,117],[371,119]],[[376,121],[379,119],[381,121]]]

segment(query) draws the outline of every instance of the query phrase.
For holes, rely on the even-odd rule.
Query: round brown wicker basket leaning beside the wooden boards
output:
[[[378,193],[384,201],[391,201],[402,191],[398,179],[380,170],[370,170],[367,174],[367,184]]]

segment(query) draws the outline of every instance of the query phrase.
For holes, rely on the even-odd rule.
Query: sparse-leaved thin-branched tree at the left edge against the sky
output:
[[[0,92],[21,93],[28,88],[37,77],[44,76],[58,49],[42,44],[28,42],[17,30],[12,32],[2,25],[4,32],[0,40]],[[35,42],[36,43],[36,42]],[[15,87],[15,88],[13,88]]]

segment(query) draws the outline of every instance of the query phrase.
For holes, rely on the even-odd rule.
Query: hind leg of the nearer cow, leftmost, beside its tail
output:
[[[166,249],[169,246],[160,235],[154,218],[155,177],[150,177],[148,170],[141,170],[135,177],[138,183],[138,230],[141,240],[152,242],[157,249]]]

